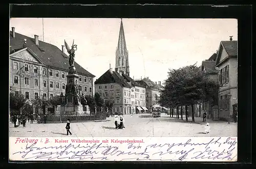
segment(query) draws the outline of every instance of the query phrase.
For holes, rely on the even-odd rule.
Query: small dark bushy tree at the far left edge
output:
[[[20,114],[23,105],[26,103],[26,99],[21,92],[10,92],[10,112],[11,114]]]

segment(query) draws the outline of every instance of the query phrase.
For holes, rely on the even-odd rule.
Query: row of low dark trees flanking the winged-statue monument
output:
[[[114,106],[114,100],[104,100],[100,97],[98,93],[95,93],[95,96],[92,97],[91,95],[85,96],[87,100],[87,105],[90,107],[91,110],[94,111],[95,108],[97,110],[101,110],[104,108],[104,110],[112,110]],[[45,114],[46,107],[49,106],[57,106],[61,105],[61,96],[54,96],[53,98],[49,100],[44,100],[41,98],[31,99],[30,101],[25,99],[25,96],[20,92],[14,92],[11,88],[10,90],[10,115],[30,115],[33,113],[33,106],[38,109],[38,113]],[[85,104],[85,103],[82,103]]]

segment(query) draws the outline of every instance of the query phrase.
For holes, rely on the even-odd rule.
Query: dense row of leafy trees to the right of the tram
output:
[[[218,84],[211,80],[200,67],[185,66],[180,69],[170,69],[161,91],[159,103],[170,109],[185,106],[187,119],[187,106],[191,106],[191,117],[194,122],[194,105],[209,101],[212,105],[218,102]],[[182,108],[181,108],[182,115]],[[182,119],[182,116],[181,116]]]

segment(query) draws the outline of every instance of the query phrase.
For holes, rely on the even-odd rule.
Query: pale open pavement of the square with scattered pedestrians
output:
[[[124,129],[115,129],[114,117],[102,121],[84,121],[72,123],[72,137],[191,137],[191,136],[237,136],[237,123],[211,121],[210,132],[204,131],[206,122],[202,118],[195,118],[195,122],[171,118],[162,114],[160,118],[153,118],[150,114],[124,115]],[[71,137],[66,135],[66,123],[37,124],[26,123],[14,128],[9,124],[9,136],[13,137]]]

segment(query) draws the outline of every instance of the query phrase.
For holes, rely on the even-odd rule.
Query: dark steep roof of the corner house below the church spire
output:
[[[127,83],[123,77],[121,77],[117,72],[110,70],[106,71],[104,74],[102,74],[95,82],[94,84],[108,84],[108,83],[118,83],[119,85],[126,87],[126,88],[132,88],[129,83]]]

